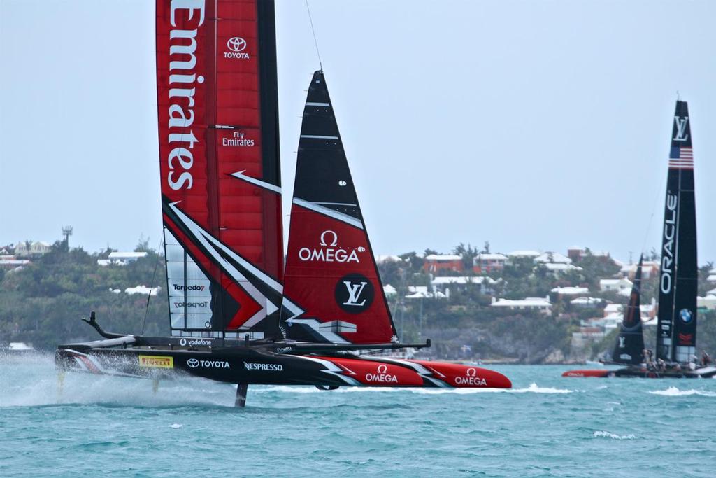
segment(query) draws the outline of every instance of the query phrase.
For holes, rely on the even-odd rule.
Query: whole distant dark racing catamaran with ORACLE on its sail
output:
[[[669,176],[662,229],[662,261],[659,271],[659,319],[656,362],[644,357],[644,335],[639,314],[642,259],[634,277],[629,305],[624,312],[612,362],[627,365],[616,370],[566,371],[566,377],[712,377],[716,367],[695,366],[696,208],[694,156],[689,109],[677,101],[674,113]]]

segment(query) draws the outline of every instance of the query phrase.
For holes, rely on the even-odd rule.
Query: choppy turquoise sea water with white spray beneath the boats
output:
[[[0,476],[716,476],[716,380],[561,378],[511,391],[235,386],[0,358]]]

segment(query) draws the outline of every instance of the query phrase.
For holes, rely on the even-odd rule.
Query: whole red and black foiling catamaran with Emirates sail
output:
[[[304,107],[284,267],[274,3],[157,2],[170,336],[59,345],[62,370],[237,383],[511,386],[495,371],[357,355],[398,343],[322,71]]]

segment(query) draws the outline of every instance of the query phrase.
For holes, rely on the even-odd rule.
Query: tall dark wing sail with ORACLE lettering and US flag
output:
[[[687,362],[696,350],[696,207],[691,121],[676,102],[662,231],[657,357]]]

